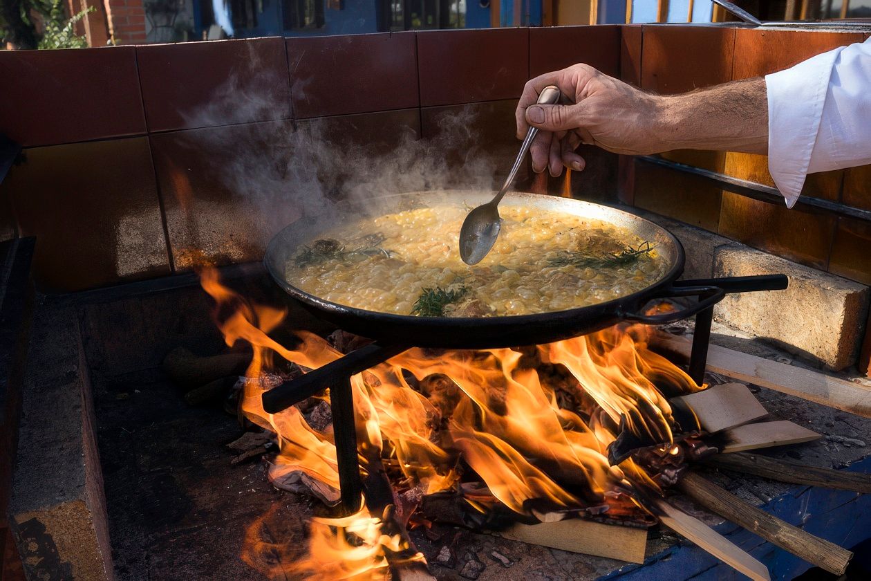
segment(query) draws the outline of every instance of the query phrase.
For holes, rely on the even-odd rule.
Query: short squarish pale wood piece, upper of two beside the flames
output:
[[[694,394],[674,397],[672,403],[691,409],[699,425],[711,434],[756,422],[768,415],[743,383],[714,385]]]

